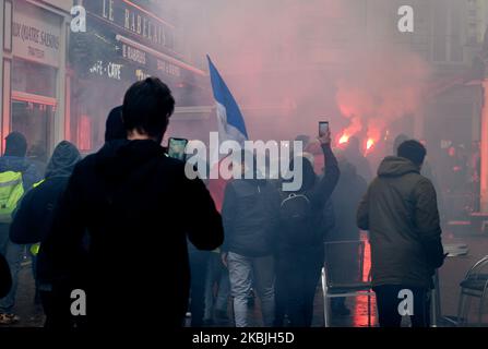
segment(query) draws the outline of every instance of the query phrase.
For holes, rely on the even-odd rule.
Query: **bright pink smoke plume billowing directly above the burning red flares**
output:
[[[350,70],[337,81],[335,96],[350,121],[344,134],[365,130],[378,142],[392,121],[418,112],[429,71],[415,53],[393,49],[358,53],[347,65]]]

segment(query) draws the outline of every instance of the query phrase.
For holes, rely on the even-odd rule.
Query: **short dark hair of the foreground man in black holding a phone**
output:
[[[174,111],[171,91],[157,77],[134,83],[123,97],[122,119],[127,131],[138,130],[163,139]]]

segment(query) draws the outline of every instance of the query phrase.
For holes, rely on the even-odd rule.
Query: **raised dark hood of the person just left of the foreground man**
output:
[[[73,172],[74,166],[81,160],[78,148],[68,141],[59,143],[49,164],[46,168],[46,178],[49,177],[69,177]]]

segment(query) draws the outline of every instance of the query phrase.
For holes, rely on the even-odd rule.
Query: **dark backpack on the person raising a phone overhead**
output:
[[[303,194],[289,194],[279,206],[283,239],[287,244],[309,245],[313,243],[312,204]]]

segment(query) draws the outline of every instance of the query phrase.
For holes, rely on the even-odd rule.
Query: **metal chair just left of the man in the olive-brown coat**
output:
[[[371,326],[370,277],[364,280],[364,241],[337,241],[325,243],[322,269],[323,313],[325,327],[330,326],[330,299],[338,297],[368,297],[368,326]]]

